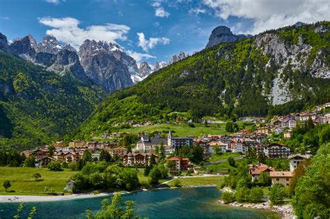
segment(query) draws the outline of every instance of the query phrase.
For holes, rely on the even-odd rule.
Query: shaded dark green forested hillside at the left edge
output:
[[[25,149],[68,134],[103,95],[70,72],[60,76],[0,50],[0,147]]]

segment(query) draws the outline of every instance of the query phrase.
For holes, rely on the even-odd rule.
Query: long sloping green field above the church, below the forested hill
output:
[[[152,126],[142,126],[142,127],[132,127],[132,128],[124,128],[118,129],[118,132],[126,132],[132,134],[139,134],[142,132],[152,133],[154,131],[160,131],[162,133],[168,133],[169,130],[172,131],[175,136],[201,136],[205,134],[212,135],[224,135],[230,134],[228,133],[226,128],[226,123],[219,124],[208,124],[205,126],[204,124],[195,123],[195,128],[190,127],[187,123],[182,124],[170,124],[170,123],[162,123]],[[239,128],[242,128],[243,123],[237,122]],[[244,128],[251,128],[251,126],[245,126]]]

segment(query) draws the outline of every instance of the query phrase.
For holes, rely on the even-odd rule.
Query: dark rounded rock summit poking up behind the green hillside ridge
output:
[[[235,35],[230,31],[229,27],[219,26],[213,29],[209,42],[206,45],[206,48],[218,45],[220,43],[235,42],[236,40],[241,40],[247,36],[243,34]]]

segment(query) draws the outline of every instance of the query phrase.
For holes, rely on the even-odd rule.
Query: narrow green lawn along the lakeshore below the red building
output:
[[[191,178],[182,178],[174,179],[169,183],[166,183],[168,186],[175,186],[179,184],[180,186],[203,186],[203,185],[219,185],[223,181],[224,176],[205,176],[205,177],[194,177]]]

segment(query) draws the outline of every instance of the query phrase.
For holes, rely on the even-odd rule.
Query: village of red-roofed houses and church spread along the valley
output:
[[[74,140],[72,142],[55,142],[52,146],[45,146],[33,151],[24,151],[24,155],[29,157],[33,155],[36,159],[36,167],[47,167],[49,163],[77,163],[84,156],[86,151],[91,152],[91,160],[97,162],[100,160],[102,151],[109,153],[113,160],[123,163],[129,167],[143,167],[149,165],[150,160],[154,159],[156,163],[159,156],[165,157],[164,164],[170,161],[174,165],[168,167],[171,172],[191,172],[198,173],[196,170],[200,163],[192,163],[189,158],[178,156],[178,151],[184,147],[189,149],[192,146],[201,146],[203,148],[203,163],[210,164],[209,160],[212,154],[221,153],[239,153],[242,158],[248,153],[255,153],[256,156],[265,156],[269,159],[288,159],[290,160],[290,171],[282,171],[269,167],[266,164],[256,163],[249,165],[249,174],[252,181],[258,180],[263,172],[269,173],[272,183],[281,183],[283,186],[289,186],[290,179],[293,176],[293,170],[301,160],[311,158],[311,151],[300,154],[288,146],[278,142],[269,141],[272,135],[282,133],[285,139],[291,137],[292,130],[297,126],[304,126],[305,123],[312,122],[313,125],[330,123],[330,113],[317,114],[320,110],[330,107],[330,103],[315,108],[315,112],[301,112],[300,114],[290,114],[288,116],[279,116],[271,119],[253,119],[249,117],[239,118],[240,121],[252,121],[253,123],[264,123],[256,130],[239,130],[232,135],[203,135],[199,137],[174,137],[171,130],[167,136],[158,132],[139,133],[139,140],[131,147],[120,146],[118,139],[113,142],[84,142],[83,140]],[[104,134],[103,137],[118,137],[120,133]],[[49,150],[51,148],[51,150]],[[197,167],[197,168],[194,168]]]

